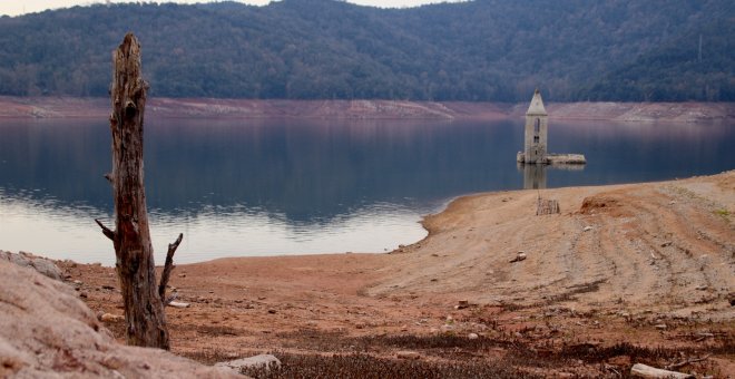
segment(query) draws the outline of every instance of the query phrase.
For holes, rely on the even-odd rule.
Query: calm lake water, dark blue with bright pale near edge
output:
[[[256,122],[149,119],[146,194],[156,261],[382,252],[425,235],[455,196],[526,186],[628,183],[735,168],[735,125],[550,120],[556,153],[584,169],[527,179],[522,119]],[[105,120],[0,120],[0,249],[111,265]],[[527,175],[528,176],[528,175]]]

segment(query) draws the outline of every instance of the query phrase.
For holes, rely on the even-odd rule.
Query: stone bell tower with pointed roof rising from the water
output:
[[[526,111],[526,136],[523,156],[519,162],[527,164],[547,164],[549,114],[543,108],[541,93],[536,89],[531,105]]]

